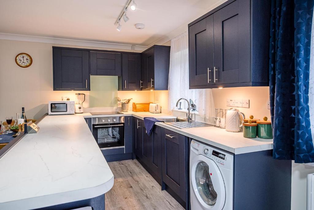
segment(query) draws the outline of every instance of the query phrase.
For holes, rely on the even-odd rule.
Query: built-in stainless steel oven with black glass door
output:
[[[92,133],[100,149],[124,147],[124,117],[92,118]]]

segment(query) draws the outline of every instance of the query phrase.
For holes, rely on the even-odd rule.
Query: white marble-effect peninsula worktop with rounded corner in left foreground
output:
[[[34,209],[100,196],[114,177],[84,118],[46,116],[0,159],[0,209]]]

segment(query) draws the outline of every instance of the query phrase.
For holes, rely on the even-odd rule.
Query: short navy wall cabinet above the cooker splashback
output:
[[[91,51],[90,75],[121,76],[121,53]]]

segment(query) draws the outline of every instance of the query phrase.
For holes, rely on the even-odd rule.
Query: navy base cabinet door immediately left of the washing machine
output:
[[[161,136],[162,189],[187,209],[187,137],[167,129],[161,129]]]

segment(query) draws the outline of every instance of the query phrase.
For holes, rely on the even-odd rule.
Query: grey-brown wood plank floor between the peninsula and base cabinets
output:
[[[115,183],[105,194],[106,210],[184,209],[168,192],[161,191],[161,186],[137,160],[108,164]]]

